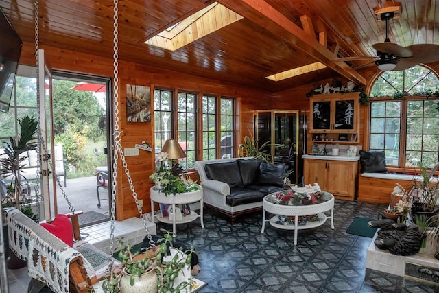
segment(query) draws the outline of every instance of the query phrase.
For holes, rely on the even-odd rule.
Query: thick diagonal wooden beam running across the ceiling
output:
[[[285,42],[300,49],[305,54],[327,65],[333,71],[356,84],[366,85],[361,76],[344,62],[334,62],[337,58],[329,49],[323,47],[316,38],[309,38],[304,30],[287,19],[281,12],[263,0],[217,0],[230,10],[276,34]]]

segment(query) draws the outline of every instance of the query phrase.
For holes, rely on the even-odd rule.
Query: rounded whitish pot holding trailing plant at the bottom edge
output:
[[[142,293],[150,292],[157,293],[157,274],[154,269],[141,274],[140,277],[134,276],[134,284],[130,284],[131,274],[128,274],[125,269],[123,269],[123,274],[121,277],[121,292],[122,293]]]

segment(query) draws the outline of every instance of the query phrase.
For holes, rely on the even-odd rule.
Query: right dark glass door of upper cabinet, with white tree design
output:
[[[353,132],[357,129],[358,107],[355,99],[337,99],[334,101],[334,130]]]

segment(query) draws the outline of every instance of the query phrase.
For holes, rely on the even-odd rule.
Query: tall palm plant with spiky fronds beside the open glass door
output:
[[[5,142],[5,149],[3,156],[0,158],[2,169],[1,174],[5,177],[12,176],[10,187],[14,189],[14,200],[16,208],[20,208],[21,197],[21,170],[25,167],[23,161],[27,156],[23,156],[23,152],[28,150],[35,150],[38,143],[36,141],[36,133],[38,130],[38,122],[34,117],[26,115],[19,119],[20,134],[18,137],[10,137],[10,143]]]

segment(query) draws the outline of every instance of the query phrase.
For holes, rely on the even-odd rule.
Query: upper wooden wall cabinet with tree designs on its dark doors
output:
[[[329,135],[333,141],[358,141],[359,93],[320,95],[310,100],[310,132],[313,141]]]

